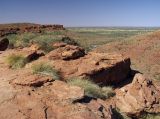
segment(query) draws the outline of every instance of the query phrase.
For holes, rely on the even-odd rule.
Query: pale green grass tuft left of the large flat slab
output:
[[[53,77],[54,80],[59,80],[60,75],[57,70],[46,63],[38,63],[32,66],[32,72],[34,74],[48,75]]]

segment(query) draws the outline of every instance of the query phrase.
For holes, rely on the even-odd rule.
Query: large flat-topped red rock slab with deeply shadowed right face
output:
[[[89,77],[97,83],[119,83],[130,73],[130,59],[119,54],[89,53],[76,60],[55,60],[53,65],[63,76]]]

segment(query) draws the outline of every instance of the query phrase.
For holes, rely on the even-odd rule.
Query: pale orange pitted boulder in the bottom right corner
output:
[[[142,74],[136,74],[132,83],[116,92],[116,105],[128,115],[141,112],[160,112],[160,91]]]

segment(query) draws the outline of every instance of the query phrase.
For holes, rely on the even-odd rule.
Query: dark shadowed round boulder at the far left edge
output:
[[[7,38],[0,39],[0,51],[4,51],[8,48],[9,40]]]

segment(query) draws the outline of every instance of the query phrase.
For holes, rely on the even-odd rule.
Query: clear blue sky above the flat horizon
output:
[[[160,26],[160,0],[0,0],[0,23]]]

